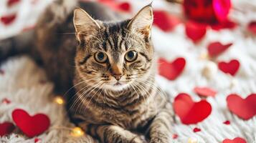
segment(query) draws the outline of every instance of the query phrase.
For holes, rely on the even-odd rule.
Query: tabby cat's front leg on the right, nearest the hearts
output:
[[[158,112],[153,122],[149,126],[148,136],[150,143],[169,143],[171,142],[171,105],[166,105],[165,109]]]

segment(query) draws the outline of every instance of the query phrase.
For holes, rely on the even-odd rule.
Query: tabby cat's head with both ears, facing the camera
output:
[[[120,22],[98,21],[75,9],[78,76],[95,87],[114,91],[145,82],[153,62],[152,24],[151,5]]]

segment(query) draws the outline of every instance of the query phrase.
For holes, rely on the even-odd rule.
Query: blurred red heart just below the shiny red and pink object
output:
[[[194,42],[201,40],[207,34],[207,26],[194,21],[188,21],[185,25],[186,36]]]

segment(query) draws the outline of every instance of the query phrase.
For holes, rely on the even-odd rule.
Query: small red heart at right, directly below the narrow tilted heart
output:
[[[221,71],[223,71],[226,74],[231,74],[232,76],[234,76],[234,74],[237,73],[239,67],[240,67],[240,62],[237,61],[236,59],[232,59],[231,61],[224,62],[224,61],[220,61],[218,63],[219,69]]]

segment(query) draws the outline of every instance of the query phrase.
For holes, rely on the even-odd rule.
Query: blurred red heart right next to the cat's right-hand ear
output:
[[[153,24],[163,31],[171,31],[175,26],[181,23],[181,20],[169,14],[166,11],[153,11]]]

